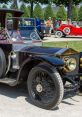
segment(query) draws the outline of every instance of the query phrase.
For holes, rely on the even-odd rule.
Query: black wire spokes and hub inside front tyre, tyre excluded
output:
[[[32,92],[35,100],[43,104],[51,102],[55,95],[55,85],[51,77],[38,71],[32,81]]]

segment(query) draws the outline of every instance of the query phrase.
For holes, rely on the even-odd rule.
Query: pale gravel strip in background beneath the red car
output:
[[[66,38],[55,38],[54,35],[51,37],[45,37],[43,42],[53,42],[53,41],[82,41],[82,36],[69,36]]]

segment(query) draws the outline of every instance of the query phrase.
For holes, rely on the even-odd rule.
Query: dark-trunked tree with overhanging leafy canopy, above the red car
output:
[[[71,19],[72,17],[72,5],[78,5],[80,2],[82,2],[82,0],[53,0],[54,3],[56,3],[57,5],[65,5],[67,7],[67,16],[69,19]]]

